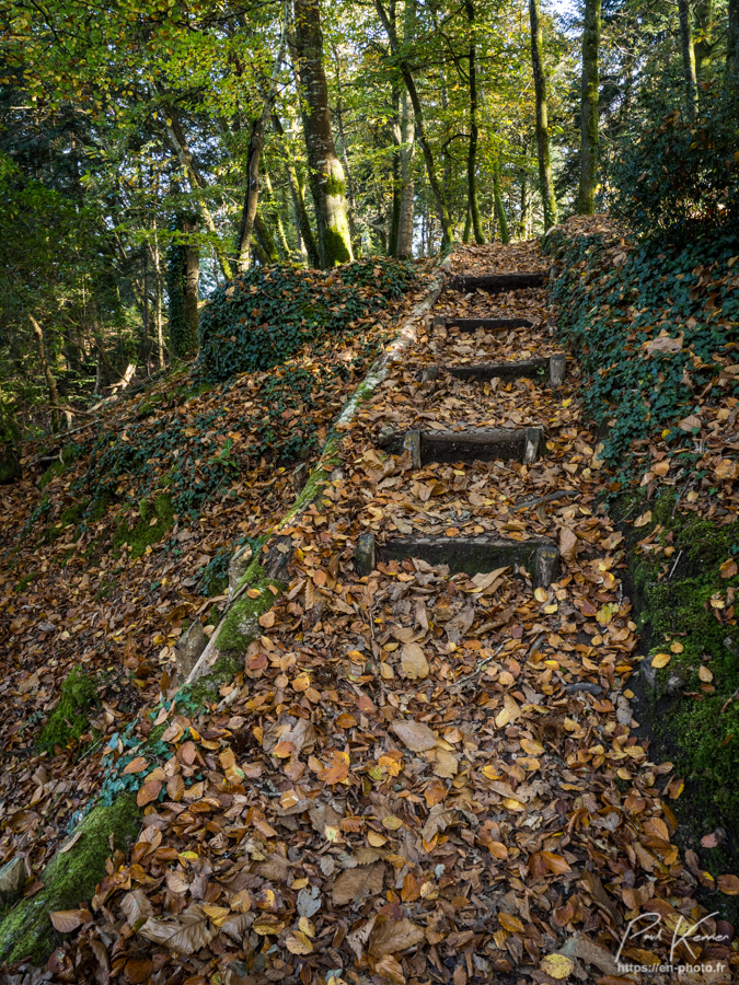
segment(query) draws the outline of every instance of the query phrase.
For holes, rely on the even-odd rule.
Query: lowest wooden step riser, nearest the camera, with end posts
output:
[[[429,565],[448,565],[451,573],[464,571],[480,575],[496,568],[524,568],[538,587],[547,588],[556,578],[559,552],[553,541],[532,537],[529,541],[504,541],[494,536],[389,537],[383,543],[373,533],[357,541],[355,564],[360,577],[373,571],[378,564],[415,557]]]

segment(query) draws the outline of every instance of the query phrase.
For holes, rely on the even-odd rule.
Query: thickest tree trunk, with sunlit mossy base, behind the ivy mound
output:
[[[336,155],[323,68],[323,33],[319,0],[296,0],[296,50],[303,111],[305,151],[319,225],[321,266],[354,259],[346,202],[346,181]]]

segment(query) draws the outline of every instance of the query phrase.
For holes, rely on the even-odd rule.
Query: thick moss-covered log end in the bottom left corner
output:
[[[119,797],[111,807],[93,808],[74,832],[81,832],[76,844],[47,866],[42,876],[44,889],[21,900],[0,924],[0,962],[28,957],[35,964],[46,961],[59,937],[49,914],[89,901],[105,874],[111,842],[125,850],[138,827],[139,810],[132,796]]]

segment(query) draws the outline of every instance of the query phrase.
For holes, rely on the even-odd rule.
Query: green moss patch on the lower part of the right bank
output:
[[[630,552],[631,593],[643,629],[649,664],[653,654],[670,653],[646,686],[644,708],[660,754],[673,761],[685,790],[673,809],[680,821],[678,841],[698,853],[702,866],[717,876],[739,865],[739,627],[730,612],[739,576],[723,578],[720,566],[739,559],[739,523],[724,525],[693,514],[672,515],[672,494],[651,506],[657,542],[673,548],[666,563]],[[642,509],[644,505],[642,505]],[[661,528],[661,530],[658,530]],[[644,537],[646,529],[632,531]],[[679,650],[679,652],[673,652]],[[712,679],[704,677],[711,672]],[[643,674],[648,677],[648,674]],[[714,849],[701,838],[717,828],[727,835]],[[734,847],[732,847],[734,846]],[[739,901],[712,897],[729,919]]]

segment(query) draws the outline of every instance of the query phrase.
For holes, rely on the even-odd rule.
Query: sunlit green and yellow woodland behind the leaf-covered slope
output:
[[[250,268],[604,207],[662,240],[730,231],[737,9],[0,0],[3,440],[193,355]]]

